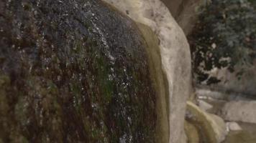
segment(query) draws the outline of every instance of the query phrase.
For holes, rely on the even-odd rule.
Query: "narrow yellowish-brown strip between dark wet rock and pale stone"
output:
[[[152,83],[156,87],[156,140],[155,142],[168,142],[168,111],[167,111],[167,99],[168,96],[168,81],[166,80],[165,74],[162,70],[160,49],[158,46],[159,40],[155,33],[145,24],[137,24],[142,35],[147,43],[147,53],[150,56],[150,74],[152,77]]]

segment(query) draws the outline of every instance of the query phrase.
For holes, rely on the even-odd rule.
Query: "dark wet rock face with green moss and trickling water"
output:
[[[148,68],[101,1],[0,1],[0,142],[154,142]]]

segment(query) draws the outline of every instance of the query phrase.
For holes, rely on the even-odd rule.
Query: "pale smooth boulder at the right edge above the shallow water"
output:
[[[221,116],[234,122],[250,122],[256,124],[256,101],[227,102],[221,109]]]

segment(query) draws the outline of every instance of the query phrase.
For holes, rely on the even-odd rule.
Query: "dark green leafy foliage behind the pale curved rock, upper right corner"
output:
[[[255,1],[253,1],[255,2]],[[220,82],[206,71],[251,66],[256,56],[256,8],[252,0],[213,0],[199,14],[189,36],[197,82]],[[242,71],[237,72],[237,76]]]

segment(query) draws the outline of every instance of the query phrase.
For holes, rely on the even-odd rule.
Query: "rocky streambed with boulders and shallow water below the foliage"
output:
[[[200,95],[196,96],[193,103],[188,102],[187,104],[186,132],[188,142],[256,142],[256,114],[254,111],[256,102],[254,100],[246,98],[218,99]],[[190,112],[191,109],[197,110],[197,112]],[[217,121],[214,119],[215,116],[221,119]],[[225,124],[223,125],[221,122]],[[224,138],[219,133],[224,135]]]

